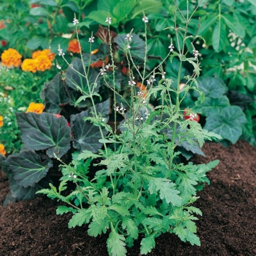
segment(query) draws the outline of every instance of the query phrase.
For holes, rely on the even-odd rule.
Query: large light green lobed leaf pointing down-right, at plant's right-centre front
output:
[[[173,189],[175,184],[170,182],[169,179],[160,177],[144,176],[148,180],[148,190],[150,194],[160,192],[160,198],[165,199],[167,203],[172,203],[174,206],[180,206],[182,198],[179,197],[179,191]]]

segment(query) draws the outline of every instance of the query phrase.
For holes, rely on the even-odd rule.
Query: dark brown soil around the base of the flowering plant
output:
[[[256,148],[239,141],[224,148],[220,143],[203,147],[205,158],[195,163],[219,159],[209,173],[210,186],[198,193],[195,206],[203,216],[197,221],[201,246],[181,242],[173,234],[156,239],[148,255],[256,255]],[[8,181],[0,175],[0,203],[8,192]],[[46,196],[0,207],[0,255],[2,256],[73,256],[108,255],[106,235],[89,237],[87,227],[69,229],[71,215],[57,216],[56,201]],[[140,241],[127,255],[140,255]]]

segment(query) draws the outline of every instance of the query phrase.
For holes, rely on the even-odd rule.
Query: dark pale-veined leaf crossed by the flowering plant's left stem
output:
[[[108,121],[108,113],[109,113],[109,99],[96,105],[97,113],[100,113],[102,117],[105,117],[106,121]],[[100,127],[95,126],[90,121],[84,121],[85,117],[92,116],[90,114],[92,109],[87,109],[86,111],[82,111],[79,114],[72,115],[70,118],[70,125],[72,130],[74,131],[74,148],[77,148],[79,151],[82,150],[90,150],[96,152],[99,148],[102,147],[102,143],[99,142],[100,139],[103,139],[100,132]],[[103,135],[107,134],[106,129],[101,127]]]

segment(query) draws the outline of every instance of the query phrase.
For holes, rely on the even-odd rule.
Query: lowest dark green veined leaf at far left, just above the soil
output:
[[[48,173],[49,168],[53,166],[50,158],[41,159],[40,156],[32,150],[24,150],[20,153],[9,156],[5,163],[8,169],[14,173],[14,179],[19,186],[35,186]]]

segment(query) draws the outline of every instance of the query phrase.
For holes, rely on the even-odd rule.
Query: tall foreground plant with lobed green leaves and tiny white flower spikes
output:
[[[115,121],[117,114],[124,118],[120,125],[121,134],[117,134],[116,126],[111,129],[106,124],[105,113],[95,104],[97,85],[96,82],[89,82],[89,67],[83,56],[80,61],[83,67],[82,77],[86,83],[82,83],[83,87],[80,87],[74,80],[69,79],[74,82],[77,90],[82,92],[79,101],[91,101],[92,108],[87,115],[81,116],[85,121],[83,126],[90,122],[99,130],[101,138],[98,142],[103,143],[103,147],[96,151],[75,151],[72,154],[72,162],[68,165],[61,160],[61,156],[58,156],[59,151],[49,148],[48,151],[63,164],[63,176],[58,189],[50,184],[51,189],[42,189],[39,193],[67,203],[67,206],[58,207],[57,213],[73,213],[69,228],[88,223],[88,234],[95,237],[109,230],[109,255],[126,255],[126,245],[131,247],[139,234],[142,235],[141,254],[151,252],[155,247],[155,238],[166,232],[177,234],[184,242],[200,245],[195,235],[197,228],[194,220],[197,218],[194,214],[202,213],[193,207],[192,203],[197,200],[197,190],[201,190],[204,183],[209,182],[206,177],[207,171],[215,167],[218,161],[199,165],[179,163],[176,160],[179,159],[181,152],[176,151],[176,148],[182,142],[193,145],[195,141],[202,147],[205,140],[221,137],[202,129],[198,122],[190,118],[184,119],[184,113],[180,108],[189,90],[195,90],[202,95],[197,88],[196,80],[200,74],[198,51],[193,44],[193,38],[187,37],[190,14],[187,12],[180,15],[186,24],[184,41],[182,45],[177,46],[177,51],[172,42],[169,45],[169,60],[177,58],[179,61],[175,84],[166,76],[162,66],[147,72],[147,43],[143,66],[134,65],[134,59],[130,54],[134,35],[132,32],[126,34],[124,42],[131,92],[130,100],[126,101],[126,108],[117,101],[117,96],[120,95],[116,92],[116,65],[110,43],[111,64],[103,65],[100,75],[103,76],[106,86],[113,89]],[[108,22],[109,30],[111,17],[108,15],[105,21]],[[145,14],[143,22],[147,31],[148,17]],[[177,28],[176,25],[174,28]],[[110,33],[109,30],[109,37]],[[147,42],[147,38],[145,39]],[[185,51],[186,41],[191,43],[190,52]],[[61,49],[60,52],[62,53]],[[186,75],[187,83],[180,89],[180,82],[183,79],[182,66],[185,62],[194,67],[194,72],[192,75]],[[77,72],[74,65],[70,68]],[[108,69],[112,69],[108,71],[113,73],[112,85],[106,80]],[[142,92],[142,89],[139,92],[135,90],[135,77],[142,84],[147,82],[147,94],[145,91]],[[158,84],[155,86],[157,77]],[[158,93],[161,104],[152,109],[148,100],[150,95],[156,96]],[[174,101],[171,93],[176,95]],[[180,100],[181,93],[185,95]],[[71,127],[74,129],[80,129],[80,125],[74,122],[74,118],[79,115],[71,117]],[[108,134],[104,134],[105,129]],[[93,162],[94,166],[99,168],[96,173],[91,173],[89,169]],[[62,195],[70,182],[76,185],[76,189],[67,196]]]

